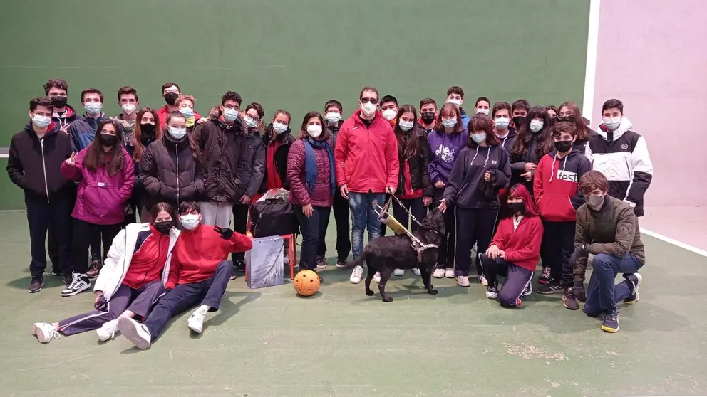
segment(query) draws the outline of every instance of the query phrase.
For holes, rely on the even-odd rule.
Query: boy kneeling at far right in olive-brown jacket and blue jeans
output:
[[[642,277],[639,269],[646,263],[646,252],[641,242],[638,218],[629,203],[611,197],[609,182],[599,171],[589,171],[579,179],[579,189],[587,203],[577,210],[577,231],[574,233],[572,254],[574,263],[574,295],[584,301],[584,272],[587,257],[594,255],[594,270],[589,278],[589,289],[584,312],[589,317],[602,314],[602,330],[619,331],[619,313],[616,303],[639,300]],[[614,285],[616,275],[624,273],[625,280]]]

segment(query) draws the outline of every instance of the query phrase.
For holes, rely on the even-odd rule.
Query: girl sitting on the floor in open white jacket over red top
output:
[[[150,209],[153,223],[125,226],[113,239],[93,287],[96,310],[52,324],[33,324],[32,334],[39,342],[92,329],[105,342],[115,336],[118,318],[147,317],[170,275],[170,256],[180,233],[172,227],[173,211],[167,203],[156,203]]]

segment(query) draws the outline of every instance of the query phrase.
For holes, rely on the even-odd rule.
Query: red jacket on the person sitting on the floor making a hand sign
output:
[[[193,231],[182,231],[172,250],[170,276],[165,288],[204,281],[214,275],[219,263],[227,260],[229,253],[245,252],[253,248],[252,240],[244,234],[233,233],[230,240],[212,226],[199,225]]]

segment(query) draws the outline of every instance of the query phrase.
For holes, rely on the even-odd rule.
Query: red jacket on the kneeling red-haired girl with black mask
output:
[[[510,263],[535,272],[540,262],[540,242],[542,241],[542,221],[539,216],[520,218],[513,230],[513,217],[501,219],[491,245],[504,250]]]

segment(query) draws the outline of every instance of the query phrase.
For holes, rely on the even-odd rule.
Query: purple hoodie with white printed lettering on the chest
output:
[[[468,135],[469,132],[466,128],[462,132],[451,134],[437,130],[428,134],[427,142],[430,144],[433,156],[428,168],[432,184],[436,184],[438,181],[443,181],[446,184],[449,181],[454,161],[459,152],[466,147]]]

